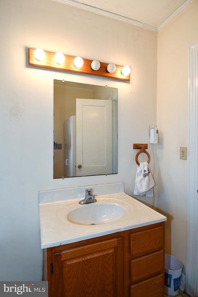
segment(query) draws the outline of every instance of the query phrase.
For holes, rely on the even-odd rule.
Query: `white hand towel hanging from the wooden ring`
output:
[[[154,185],[155,182],[153,180],[149,164],[147,162],[140,163],[140,166],[137,166],[136,184],[133,194],[153,197]]]

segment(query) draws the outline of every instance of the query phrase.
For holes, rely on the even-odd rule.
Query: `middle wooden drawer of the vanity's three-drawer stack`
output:
[[[164,269],[164,251],[131,260],[131,282],[140,282],[162,273]]]

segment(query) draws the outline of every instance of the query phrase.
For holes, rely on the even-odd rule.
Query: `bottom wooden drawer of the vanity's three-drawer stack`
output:
[[[131,297],[164,297],[164,274],[132,285]]]

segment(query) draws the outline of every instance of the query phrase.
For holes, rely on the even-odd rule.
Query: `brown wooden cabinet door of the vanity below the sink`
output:
[[[53,297],[122,297],[123,238],[54,253]]]

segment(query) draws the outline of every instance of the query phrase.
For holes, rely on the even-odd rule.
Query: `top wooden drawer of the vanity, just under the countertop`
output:
[[[164,228],[163,226],[130,234],[130,249],[132,258],[163,250]]]

